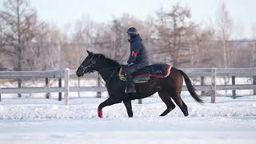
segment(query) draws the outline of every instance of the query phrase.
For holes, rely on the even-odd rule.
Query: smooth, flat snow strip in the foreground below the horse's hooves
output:
[[[88,118],[0,124],[2,143],[254,143],[254,118]]]

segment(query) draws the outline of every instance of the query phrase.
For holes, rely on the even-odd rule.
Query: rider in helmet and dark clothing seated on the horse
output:
[[[130,58],[127,61],[128,66],[125,68],[125,77],[127,80],[126,93],[136,93],[131,74],[149,65],[149,61],[146,48],[142,43],[142,38],[138,34],[138,30],[134,27],[130,27],[127,30],[127,34],[130,36],[130,39],[128,39],[128,42],[130,42]]]

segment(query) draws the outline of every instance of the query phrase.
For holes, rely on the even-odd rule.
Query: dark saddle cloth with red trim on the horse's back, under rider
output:
[[[167,64],[153,64],[150,66],[144,66],[142,69],[134,71],[133,74],[131,74],[134,78],[134,83],[142,83],[142,82],[148,82],[150,81],[150,77],[154,78],[166,78],[170,75],[171,70],[170,65]],[[124,71],[122,70],[122,67],[118,74],[120,80],[126,81]]]

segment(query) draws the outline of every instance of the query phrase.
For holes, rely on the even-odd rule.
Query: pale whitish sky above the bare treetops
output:
[[[0,0],[1,5],[4,0]],[[39,18],[64,27],[89,15],[97,22],[110,22],[123,13],[146,19],[161,7],[168,9],[174,2],[189,6],[192,19],[200,25],[216,23],[218,6],[223,0],[30,0],[38,10]],[[256,0],[224,0],[233,19],[234,37],[248,38],[256,25]],[[1,8],[1,7],[0,7]],[[239,30],[238,30],[239,29]],[[234,31],[234,30],[233,30]],[[250,37],[250,36],[249,36]]]

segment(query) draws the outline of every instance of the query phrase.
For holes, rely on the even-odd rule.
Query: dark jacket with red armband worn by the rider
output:
[[[139,35],[130,40],[130,58],[127,63],[134,63],[142,66],[149,65],[147,51],[142,43],[142,38]]]

